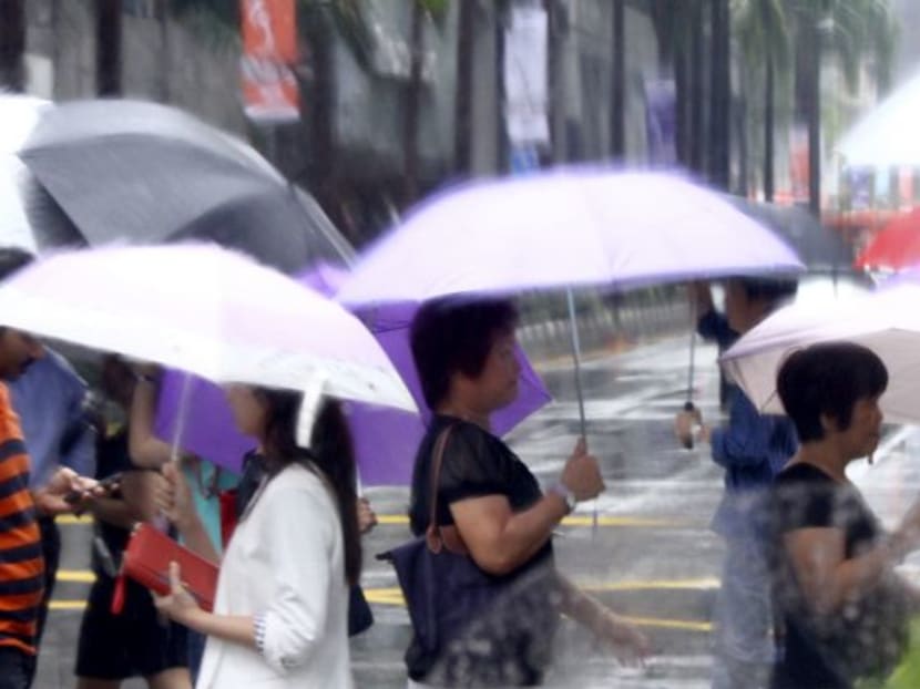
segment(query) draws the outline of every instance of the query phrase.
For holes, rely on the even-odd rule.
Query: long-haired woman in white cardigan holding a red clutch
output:
[[[345,419],[327,402],[306,450],[295,440],[299,394],[233,385],[227,397],[239,429],[259,440],[266,477],[227,545],[214,611],[183,589],[175,565],[157,607],[208,637],[197,689],[350,688],[348,585],[361,548]],[[164,474],[162,506],[207,555],[187,486],[178,472]]]

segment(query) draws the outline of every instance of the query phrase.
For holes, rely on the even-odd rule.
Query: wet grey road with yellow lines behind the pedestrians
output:
[[[718,417],[715,350],[697,348],[695,398],[704,418]],[[602,461],[607,491],[582,505],[559,531],[560,567],[615,609],[643,625],[656,654],[648,666],[621,667],[572,624],[556,642],[549,687],[707,687],[709,613],[718,586],[722,544],[708,520],[722,492],[719,469],[707,449],[676,444],[672,420],[686,399],[687,339],[665,339],[623,353],[602,352],[584,366],[589,443]],[[551,484],[579,432],[571,362],[540,367],[556,401],[510,435],[511,445],[543,485]],[[880,462],[855,467],[860,485],[883,517],[907,507],[920,472],[900,461],[920,450],[912,434],[892,429]],[[912,452],[916,456],[917,452]],[[352,641],[359,687],[405,687],[402,652],[409,627],[396,579],[374,554],[406,539],[408,493],[368,489],[381,524],[366,537],[364,584],[376,625]],[[594,511],[597,526],[593,526]],[[55,609],[42,650],[37,687],[72,686],[73,652],[81,601],[89,588],[85,523],[62,526],[65,552]],[[909,562],[907,568],[913,570]],[[140,687],[141,682],[126,683]]]

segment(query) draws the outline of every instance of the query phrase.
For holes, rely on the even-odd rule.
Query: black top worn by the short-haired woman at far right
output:
[[[773,486],[774,565],[777,601],[785,620],[785,655],[774,673],[776,689],[815,687],[848,689],[855,678],[841,675],[809,631],[800,594],[784,559],[783,536],[799,528],[839,528],[844,532],[845,557],[858,557],[881,535],[876,515],[859,491],[840,484],[811,464],[794,464],[781,471]]]

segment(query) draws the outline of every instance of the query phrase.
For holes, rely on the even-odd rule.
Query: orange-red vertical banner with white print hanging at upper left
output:
[[[292,71],[297,61],[294,0],[241,0],[239,14],[246,116],[270,122],[297,120],[299,90]]]

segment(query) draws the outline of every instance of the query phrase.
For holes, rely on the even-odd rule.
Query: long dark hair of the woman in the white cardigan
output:
[[[256,394],[268,404],[264,448],[270,470],[278,472],[293,462],[313,462],[331,485],[345,543],[345,578],[349,584],[357,584],[361,576],[357,470],[351,433],[341,405],[333,400],[323,403],[310,432],[308,450],[297,444],[300,393],[257,388]]]

